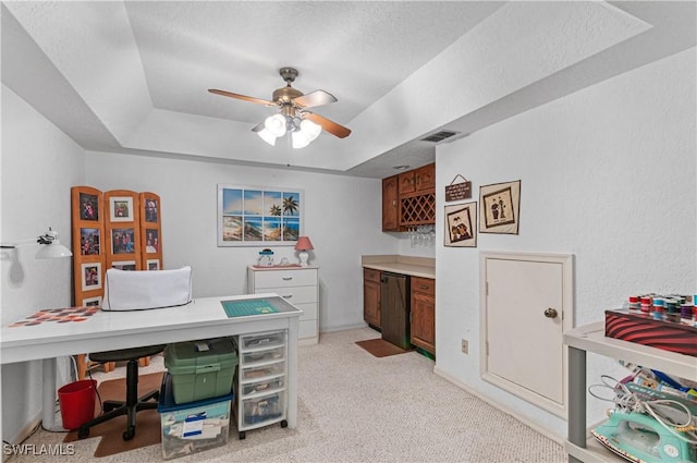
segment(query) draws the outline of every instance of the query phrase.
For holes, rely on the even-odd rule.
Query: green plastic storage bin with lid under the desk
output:
[[[228,338],[186,341],[164,348],[174,402],[188,403],[229,394],[237,355]]]

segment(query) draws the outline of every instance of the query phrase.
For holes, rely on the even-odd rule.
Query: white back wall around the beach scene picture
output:
[[[86,178],[101,191],[160,195],[164,268],[191,265],[196,297],[245,293],[246,266],[266,247],[217,246],[217,184],[304,190],[310,264],[320,267],[320,331],[363,326],[360,256],[399,248],[380,231],[382,186],[376,179],[89,151]],[[273,251],[277,261],[297,261],[292,247]]]

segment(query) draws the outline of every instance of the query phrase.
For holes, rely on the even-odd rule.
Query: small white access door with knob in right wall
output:
[[[482,269],[482,377],[561,415],[566,402],[562,334],[564,318],[573,320],[571,288],[565,288],[571,265],[564,260],[496,255],[484,260]]]

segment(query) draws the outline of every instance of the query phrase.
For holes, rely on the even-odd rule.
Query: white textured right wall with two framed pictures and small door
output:
[[[474,192],[522,180],[519,235],[436,251],[438,369],[566,435],[565,422],[479,378],[480,251],[574,254],[575,326],[601,321],[631,294],[695,291],[695,82],[693,48],[438,148],[438,192],[457,173]],[[588,362],[596,383],[609,361]],[[589,403],[595,421],[606,407]]]

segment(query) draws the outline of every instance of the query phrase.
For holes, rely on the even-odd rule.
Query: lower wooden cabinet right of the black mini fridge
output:
[[[436,280],[412,277],[412,344],[436,355]]]

